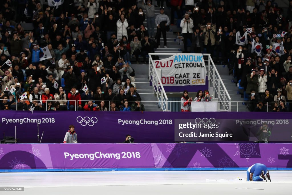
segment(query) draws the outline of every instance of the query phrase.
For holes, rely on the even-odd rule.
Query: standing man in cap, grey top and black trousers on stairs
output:
[[[161,33],[163,36],[163,43],[164,48],[167,48],[166,46],[166,31],[169,27],[170,20],[168,18],[168,15],[164,14],[164,8],[160,8],[160,14],[156,15],[155,18],[155,25],[157,26],[157,32],[155,38],[157,39],[157,47],[160,48],[160,37]]]

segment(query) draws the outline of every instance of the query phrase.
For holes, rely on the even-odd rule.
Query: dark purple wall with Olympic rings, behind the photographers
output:
[[[78,143],[121,143],[131,134],[136,143],[176,141],[248,142],[256,141],[263,122],[271,129],[270,142],[291,142],[290,113],[256,112],[98,112],[98,111],[0,111],[0,140],[15,137],[18,143],[63,143],[69,125],[75,125]],[[232,137],[179,137],[187,122],[212,125],[194,129],[196,133],[229,133]],[[215,126],[214,126],[215,125]],[[218,128],[217,126],[218,125]],[[176,139],[175,139],[176,138]],[[190,139],[189,139],[190,138]]]

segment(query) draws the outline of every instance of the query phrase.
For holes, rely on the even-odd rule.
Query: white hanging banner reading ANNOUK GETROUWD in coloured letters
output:
[[[154,60],[164,86],[205,85],[207,69],[202,54],[175,54]]]

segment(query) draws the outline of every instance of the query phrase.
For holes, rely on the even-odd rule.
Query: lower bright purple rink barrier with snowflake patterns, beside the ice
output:
[[[1,144],[0,171],[292,168],[292,144]],[[194,169],[194,170],[195,170]],[[159,169],[160,170],[160,169]]]

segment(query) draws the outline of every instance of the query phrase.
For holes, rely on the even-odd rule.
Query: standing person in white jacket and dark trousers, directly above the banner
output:
[[[185,48],[185,53],[187,53],[187,39],[190,39],[192,42],[192,33],[193,33],[193,27],[194,27],[194,22],[192,18],[190,18],[189,13],[185,13],[185,17],[183,20],[180,22],[180,27],[182,27],[182,34],[183,34],[183,40],[184,40],[184,48]]]

